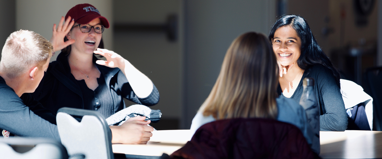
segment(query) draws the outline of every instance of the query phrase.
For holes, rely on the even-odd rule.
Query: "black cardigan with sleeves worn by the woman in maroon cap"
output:
[[[98,60],[97,57],[93,56],[94,64],[96,60]],[[119,68],[95,65],[99,68],[101,75],[104,75],[105,83],[109,86],[112,96],[112,99],[103,99],[109,100],[107,103],[111,103],[103,106],[109,107],[107,110],[110,110],[101,113],[104,114],[105,118],[125,108],[123,98],[146,106],[152,106],[159,102],[159,92],[154,84],[153,90],[148,97],[139,98],[135,95],[126,76]],[[44,78],[36,91],[32,93],[32,96],[45,108],[53,112],[57,112],[62,107],[84,109],[83,92],[71,74],[67,56],[63,54],[59,54],[57,60],[49,64]],[[102,98],[102,94],[98,95],[98,97]],[[55,123],[55,121],[51,122]]]

